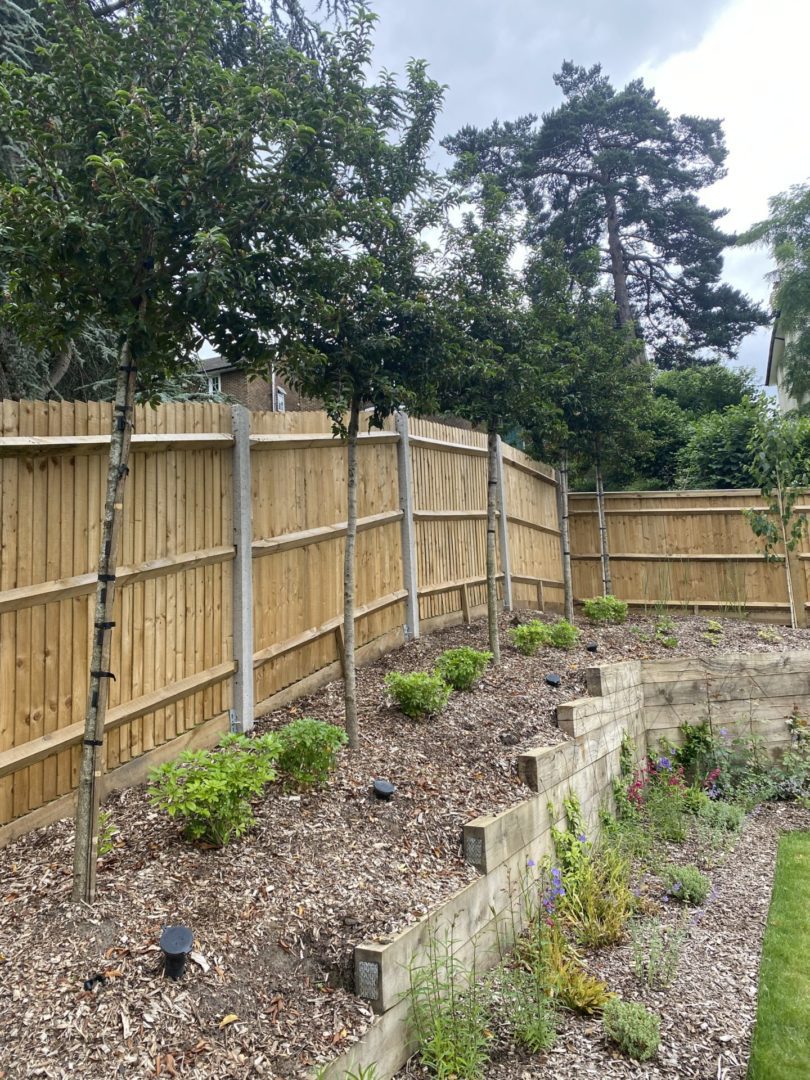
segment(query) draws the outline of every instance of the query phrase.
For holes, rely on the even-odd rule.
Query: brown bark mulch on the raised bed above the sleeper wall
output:
[[[524,658],[504,646],[502,666],[429,724],[388,704],[384,674],[429,669],[453,646],[485,648],[486,626],[405,646],[359,673],[359,752],[341,756],[323,791],[273,785],[241,842],[190,847],[144,786],[111,797],[120,833],[92,909],[70,903],[71,822],[0,851],[0,1077],[272,1078],[335,1056],[370,1020],[351,993],[354,945],[384,940],[475,877],[461,825],[529,795],[516,755],[563,739],[554,707],[584,693],[584,670],[706,648],[704,619],[678,620],[675,650],[639,636],[651,624],[588,627],[565,653]],[[758,631],[728,621],[720,651],[810,648],[808,632],[780,630],[780,642],[766,643]],[[543,681],[550,671],[562,676],[557,689]],[[301,715],[339,723],[340,685],[258,729]],[[390,804],[370,795],[378,777],[397,785]],[[161,977],[158,940],[177,922],[193,930],[195,951],[175,984]],[[104,984],[84,989],[96,973]]]

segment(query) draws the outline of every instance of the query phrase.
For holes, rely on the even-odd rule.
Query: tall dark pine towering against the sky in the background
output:
[[[464,181],[496,176],[527,211],[527,237],[572,262],[597,247],[619,325],[659,367],[732,355],[764,312],[720,281],[733,238],[700,202],[724,175],[720,122],[673,117],[640,79],[617,91],[600,65],[566,62],[565,100],[542,117],[464,127],[445,140]]]

